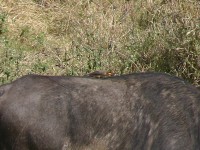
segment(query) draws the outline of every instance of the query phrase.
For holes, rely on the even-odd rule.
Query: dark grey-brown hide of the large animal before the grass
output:
[[[198,150],[200,92],[160,73],[0,87],[0,150]]]

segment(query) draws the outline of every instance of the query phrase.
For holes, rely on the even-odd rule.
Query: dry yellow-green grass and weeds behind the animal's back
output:
[[[94,70],[200,86],[200,1],[0,0],[0,84]]]

